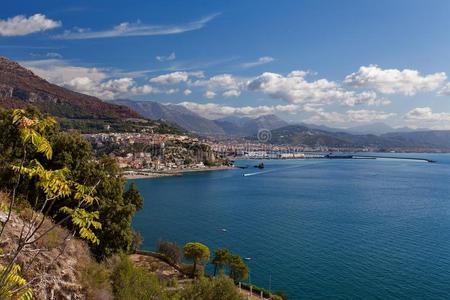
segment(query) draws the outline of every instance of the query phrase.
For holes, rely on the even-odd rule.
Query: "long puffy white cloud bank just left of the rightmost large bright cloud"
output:
[[[357,93],[347,91],[336,82],[327,79],[307,81],[305,71],[293,71],[287,76],[265,72],[247,82],[251,91],[259,91],[274,99],[282,99],[289,103],[321,103],[339,102],[347,106],[359,104],[386,105],[389,100],[378,98],[375,92]]]

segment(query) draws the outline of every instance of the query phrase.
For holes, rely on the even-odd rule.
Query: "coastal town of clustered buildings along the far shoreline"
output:
[[[184,172],[229,169],[236,159],[317,158],[320,153],[351,150],[272,145],[245,139],[213,140],[152,132],[106,132],[84,136],[98,154],[114,157],[127,178],[175,176]]]

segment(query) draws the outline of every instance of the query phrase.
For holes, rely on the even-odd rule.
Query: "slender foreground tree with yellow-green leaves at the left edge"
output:
[[[13,244],[17,246],[4,255],[7,259],[5,265],[0,265],[0,294],[26,299],[31,297],[31,292],[28,292],[28,286],[21,278],[20,267],[16,262],[19,255],[29,245],[35,244],[56,226],[68,220],[73,225],[73,231],[77,232],[81,238],[92,244],[99,243],[99,239],[94,233],[95,229],[101,229],[101,223],[98,221],[99,213],[86,210],[97,201],[96,185],[87,186],[71,180],[69,178],[70,171],[67,168],[50,170],[43,165],[44,161],[51,160],[53,156],[53,148],[45,137],[45,133],[56,124],[53,118],[38,118],[24,110],[16,109],[11,111],[10,116],[6,119],[6,124],[5,120],[2,123],[17,133],[14,140],[17,148],[11,151],[11,156],[7,160],[8,165],[5,166],[5,162],[2,164],[3,170],[9,169],[12,172],[13,185],[10,186],[9,203],[2,205],[2,209],[7,213],[6,219],[0,222],[0,239],[11,220],[19,197],[19,188],[24,181],[32,187],[32,192],[34,192],[33,202],[30,202],[33,203],[34,211],[24,222],[20,235],[13,241]],[[17,153],[20,153],[20,158],[15,157]],[[30,157],[30,154],[33,156]],[[59,211],[65,216],[49,228],[42,229],[51,207],[65,198],[73,201],[71,206],[60,207]],[[38,254],[39,252],[36,255]],[[32,262],[33,260],[29,264]]]

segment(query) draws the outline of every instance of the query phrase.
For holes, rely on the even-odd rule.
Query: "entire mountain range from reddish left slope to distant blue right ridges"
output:
[[[18,63],[0,57],[0,107],[21,108],[29,104],[58,117],[63,127],[67,120],[72,125],[77,124],[64,128],[102,131],[104,125],[112,124],[111,130],[134,130],[137,127],[130,125],[133,122],[130,120],[144,117],[169,122],[203,136],[255,139],[259,129],[269,129],[272,131],[271,142],[275,144],[405,151],[450,150],[450,131],[447,130],[394,129],[383,123],[338,129],[306,123],[289,124],[275,115],[255,118],[229,116],[210,120],[176,104],[127,99],[105,102],[51,84]],[[161,128],[161,132],[179,132],[164,122],[146,122],[159,126],[155,128]],[[142,124],[139,126],[142,127]]]

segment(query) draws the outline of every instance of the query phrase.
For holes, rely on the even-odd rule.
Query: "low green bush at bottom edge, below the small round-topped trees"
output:
[[[233,281],[225,276],[200,278],[180,291],[181,300],[242,300]]]

